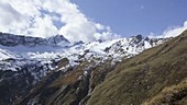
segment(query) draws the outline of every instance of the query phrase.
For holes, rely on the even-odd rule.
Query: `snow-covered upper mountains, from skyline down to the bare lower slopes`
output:
[[[112,59],[112,63],[116,63],[123,57],[130,58],[165,40],[167,39],[136,35],[130,38],[70,44],[62,35],[45,39],[0,33],[0,70],[26,70],[31,72],[35,84],[51,71],[66,71],[68,67],[74,68],[85,60],[100,63]],[[68,65],[58,67],[64,58],[68,59]]]

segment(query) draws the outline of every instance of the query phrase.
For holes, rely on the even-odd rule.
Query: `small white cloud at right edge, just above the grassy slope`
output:
[[[161,38],[175,37],[180,35],[185,30],[187,30],[187,21],[184,22],[183,26],[168,27],[162,33],[162,35],[154,35],[154,33],[151,33],[148,37],[161,37]]]

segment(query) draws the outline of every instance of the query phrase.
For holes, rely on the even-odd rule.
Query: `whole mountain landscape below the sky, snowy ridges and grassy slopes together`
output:
[[[187,31],[70,43],[0,33],[1,105],[185,105]]]

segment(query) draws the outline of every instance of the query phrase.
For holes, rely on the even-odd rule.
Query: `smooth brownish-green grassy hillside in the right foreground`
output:
[[[187,105],[187,31],[122,61],[87,105]]]

